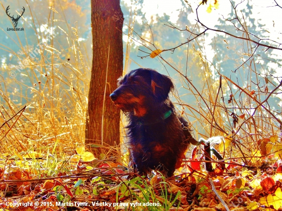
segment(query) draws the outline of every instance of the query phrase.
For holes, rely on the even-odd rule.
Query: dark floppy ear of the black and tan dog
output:
[[[164,101],[168,98],[169,92],[174,89],[170,77],[151,70],[151,87],[153,94],[158,100]]]

